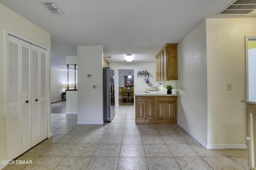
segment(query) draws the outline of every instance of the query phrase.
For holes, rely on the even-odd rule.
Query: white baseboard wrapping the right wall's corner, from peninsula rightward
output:
[[[177,124],[182,127],[182,129],[184,129],[184,131],[186,131],[189,135],[191,135],[194,139],[196,139],[196,141],[198,141],[203,147],[205,147],[206,149],[247,149],[246,145],[207,145],[207,143],[205,143],[204,141],[200,140],[194,133],[192,133],[191,131],[189,131],[188,129],[186,129],[186,127],[184,127],[182,124],[180,124],[179,122],[177,122]]]

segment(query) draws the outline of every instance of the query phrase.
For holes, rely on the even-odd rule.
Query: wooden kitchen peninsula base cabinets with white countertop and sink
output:
[[[146,91],[135,94],[135,123],[177,123],[177,94]]]

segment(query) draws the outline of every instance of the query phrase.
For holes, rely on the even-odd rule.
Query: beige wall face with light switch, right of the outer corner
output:
[[[245,35],[256,35],[256,18],[206,19],[208,148],[246,145]]]

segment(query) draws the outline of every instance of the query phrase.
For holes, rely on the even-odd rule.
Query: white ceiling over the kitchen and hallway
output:
[[[65,56],[79,45],[103,45],[110,63],[155,62],[166,43],[178,43],[205,18],[216,16],[234,0],[52,0],[64,14],[52,14],[40,2],[0,0],[14,12],[51,34],[51,67],[64,69]]]

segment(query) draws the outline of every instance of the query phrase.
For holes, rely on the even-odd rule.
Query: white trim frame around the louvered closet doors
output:
[[[13,31],[10,31],[9,29],[4,29],[4,115],[5,115],[5,160],[8,160],[8,138],[9,138],[9,120],[8,120],[8,110],[9,110],[9,102],[8,102],[8,44],[9,44],[9,38],[8,35],[12,35],[14,37],[17,37],[19,39],[22,39],[23,41],[27,41],[28,43],[34,44],[38,47],[41,47],[46,50],[46,88],[47,94],[46,94],[46,100],[47,100],[47,133],[48,138],[52,137],[52,131],[51,131],[51,102],[50,102],[50,50],[48,47],[41,45],[40,43],[37,43],[31,39],[28,39],[26,37],[23,37],[22,35],[19,35],[18,33],[15,33]]]

